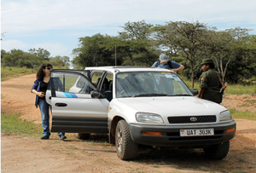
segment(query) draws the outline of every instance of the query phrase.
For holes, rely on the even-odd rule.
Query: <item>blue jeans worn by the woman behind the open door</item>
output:
[[[45,101],[39,98],[38,101],[38,106],[41,112],[41,117],[42,117],[42,126],[44,129],[43,135],[44,136],[50,136],[49,133],[49,104]],[[50,107],[50,111],[51,111],[51,107]],[[58,133],[58,136],[64,136],[65,133]]]

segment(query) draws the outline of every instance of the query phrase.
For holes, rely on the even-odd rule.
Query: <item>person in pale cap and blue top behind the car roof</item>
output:
[[[167,55],[165,54],[161,54],[159,60],[155,61],[152,67],[170,69],[172,72],[180,72],[185,68],[182,64],[178,64],[175,61],[168,61]]]

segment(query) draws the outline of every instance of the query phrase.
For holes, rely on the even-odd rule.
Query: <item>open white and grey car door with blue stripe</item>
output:
[[[52,107],[52,132],[108,133],[106,98],[91,98],[90,71],[50,72],[46,101]]]

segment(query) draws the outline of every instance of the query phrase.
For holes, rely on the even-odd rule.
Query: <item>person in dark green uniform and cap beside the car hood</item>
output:
[[[214,71],[215,66],[213,60],[203,60],[201,68],[204,72],[200,77],[200,90],[197,97],[220,104],[222,101],[222,95],[219,92],[219,89],[221,87],[218,80],[218,73]]]

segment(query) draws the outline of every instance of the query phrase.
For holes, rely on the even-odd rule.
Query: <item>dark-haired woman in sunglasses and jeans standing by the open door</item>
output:
[[[37,79],[32,86],[31,92],[36,96],[35,106],[40,109],[41,117],[42,117],[42,126],[44,129],[43,136],[41,140],[48,140],[49,133],[49,107],[51,110],[51,106],[45,101],[45,93],[49,83],[49,72],[52,70],[52,66],[47,63],[40,66],[37,72]],[[61,140],[66,139],[65,133],[58,133]]]

